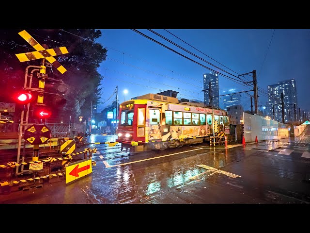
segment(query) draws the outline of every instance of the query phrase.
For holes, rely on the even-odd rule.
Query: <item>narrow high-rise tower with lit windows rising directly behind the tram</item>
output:
[[[211,93],[209,90],[211,86]],[[210,105],[214,108],[219,108],[218,103],[218,74],[214,72],[203,74],[203,102],[205,105]],[[211,97],[211,98],[210,98]]]

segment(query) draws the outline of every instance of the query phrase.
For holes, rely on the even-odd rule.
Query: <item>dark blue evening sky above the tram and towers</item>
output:
[[[148,30],[138,30],[206,67],[233,77]],[[104,76],[103,100],[109,99],[116,85],[118,85],[120,102],[124,101],[124,97],[129,100],[132,97],[169,89],[178,91],[178,97],[181,98],[203,100],[201,92],[203,73],[210,72],[209,69],[187,60],[130,29],[101,31],[102,37],[98,42],[108,49],[107,60],[99,68],[99,72]],[[275,32],[273,29],[168,30],[238,74],[186,45],[167,31],[161,29],[153,31],[236,76],[256,70],[258,86],[265,92],[270,84],[295,79],[299,107],[310,108],[310,98],[307,96],[310,87],[310,30],[276,29]],[[252,79],[250,76],[246,77],[249,80]],[[220,94],[233,88],[236,88],[236,91],[245,91],[248,90],[247,87],[219,76]],[[126,96],[124,96],[124,89],[128,90]],[[253,92],[248,93],[253,94]],[[266,95],[259,92],[259,96],[259,105],[266,104]],[[111,104],[114,98],[115,95],[98,106],[98,112]],[[249,96],[242,94],[241,103],[245,110],[249,110],[249,101]]]

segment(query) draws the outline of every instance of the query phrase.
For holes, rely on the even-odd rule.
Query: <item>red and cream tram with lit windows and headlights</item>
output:
[[[120,103],[116,141],[135,151],[165,150],[225,135],[225,126],[229,119],[224,110],[146,94]]]

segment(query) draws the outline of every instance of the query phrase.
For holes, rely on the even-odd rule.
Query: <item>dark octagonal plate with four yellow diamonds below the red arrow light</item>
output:
[[[45,124],[33,124],[25,130],[24,139],[31,145],[46,144],[50,139],[50,132]]]

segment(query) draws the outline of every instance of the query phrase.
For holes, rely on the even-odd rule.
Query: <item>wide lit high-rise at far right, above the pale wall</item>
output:
[[[299,119],[296,82],[294,79],[280,81],[268,86],[269,116],[282,122],[282,100],[284,102],[284,122],[294,123]]]

